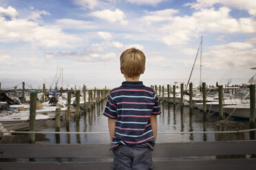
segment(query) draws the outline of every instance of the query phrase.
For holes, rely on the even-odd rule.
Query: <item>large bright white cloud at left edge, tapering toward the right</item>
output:
[[[45,47],[67,47],[80,40],[74,35],[62,32],[61,27],[40,26],[28,19],[6,20],[0,17],[0,25],[0,42],[23,41]]]

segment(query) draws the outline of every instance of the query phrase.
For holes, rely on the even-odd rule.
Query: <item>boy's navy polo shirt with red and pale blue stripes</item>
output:
[[[151,114],[161,114],[158,96],[152,88],[142,82],[122,82],[122,86],[111,90],[104,111],[106,117],[116,119],[111,148],[147,144],[153,149]]]

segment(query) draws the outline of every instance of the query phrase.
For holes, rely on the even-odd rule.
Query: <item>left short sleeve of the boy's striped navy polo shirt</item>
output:
[[[104,110],[103,115],[105,117],[109,117],[110,119],[116,119],[117,112],[116,112],[116,102],[114,101],[113,97],[109,94],[107,98],[107,104]]]

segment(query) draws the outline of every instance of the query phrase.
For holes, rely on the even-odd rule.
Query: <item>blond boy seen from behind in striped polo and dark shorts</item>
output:
[[[114,153],[112,169],[153,169],[151,150],[158,131],[156,115],[161,110],[156,93],[139,82],[145,61],[145,54],[135,48],[120,56],[126,82],[111,90],[104,112]]]

